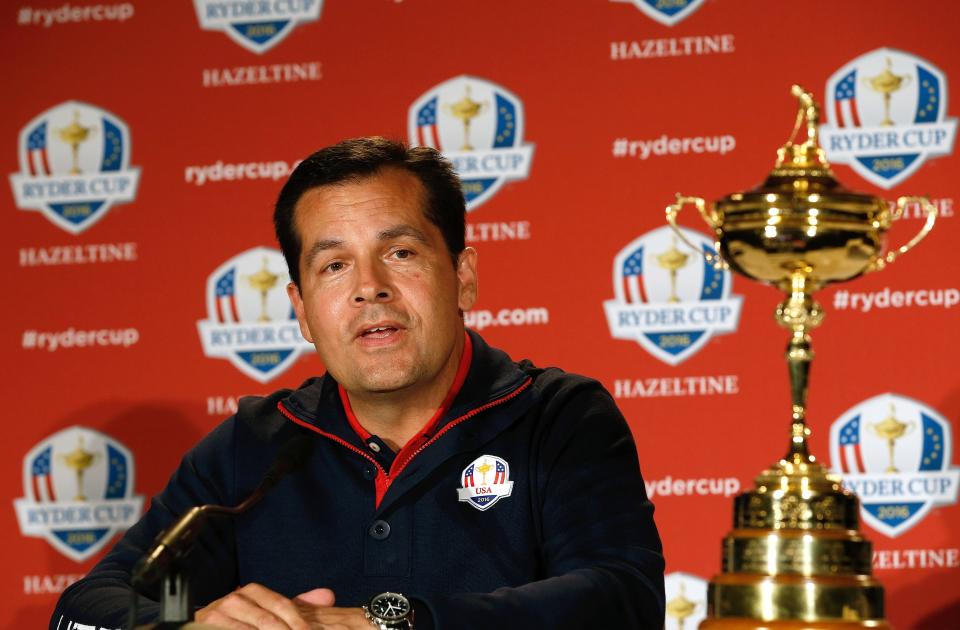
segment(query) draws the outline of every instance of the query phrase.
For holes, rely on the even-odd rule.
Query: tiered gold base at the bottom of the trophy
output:
[[[859,502],[813,457],[781,460],[734,500],[701,630],[891,630]]]

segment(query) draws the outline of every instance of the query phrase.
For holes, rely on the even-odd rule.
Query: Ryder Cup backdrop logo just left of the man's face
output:
[[[287,298],[286,269],[279,250],[255,247],[210,274],[207,319],[197,322],[205,355],[266,383],[313,349]]]

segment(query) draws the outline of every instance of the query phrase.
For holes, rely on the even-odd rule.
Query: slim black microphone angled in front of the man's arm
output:
[[[250,509],[281,479],[306,462],[313,451],[314,439],[312,433],[302,433],[284,442],[260,485],[239,505],[227,507],[208,504],[192,507],[173,525],[160,532],[153,546],[133,568],[134,586],[149,586],[167,575],[172,567],[178,566],[203,531],[208,516],[236,515]]]

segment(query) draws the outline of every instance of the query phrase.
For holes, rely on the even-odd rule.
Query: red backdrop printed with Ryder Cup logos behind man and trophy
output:
[[[892,622],[960,626],[957,18],[932,0],[8,6],[0,625],[46,623],[236,397],[322,370],[281,332],[276,254],[248,250],[275,247],[271,205],[297,159],[371,134],[459,159],[482,279],[468,323],[615,393],[668,597],[685,580],[702,616],[731,495],[786,448],[787,335],[775,290],[711,275],[658,230],[676,192],[763,179],[800,83],[846,186],[941,211],[916,251],[818,294],[810,422],[814,452],[864,492]],[[469,139],[458,103],[475,109]],[[922,223],[909,209],[890,242]],[[687,256],[674,285],[658,258],[672,248]],[[261,303],[248,280],[264,265]],[[237,345],[244,331],[260,341]],[[891,414],[892,454],[876,428]]]

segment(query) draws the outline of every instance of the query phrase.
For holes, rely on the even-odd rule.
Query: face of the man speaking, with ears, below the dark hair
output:
[[[454,269],[424,197],[416,176],[385,169],[311,189],[294,208],[301,286],[287,291],[303,336],[351,394],[430,392],[456,373],[476,252]]]

